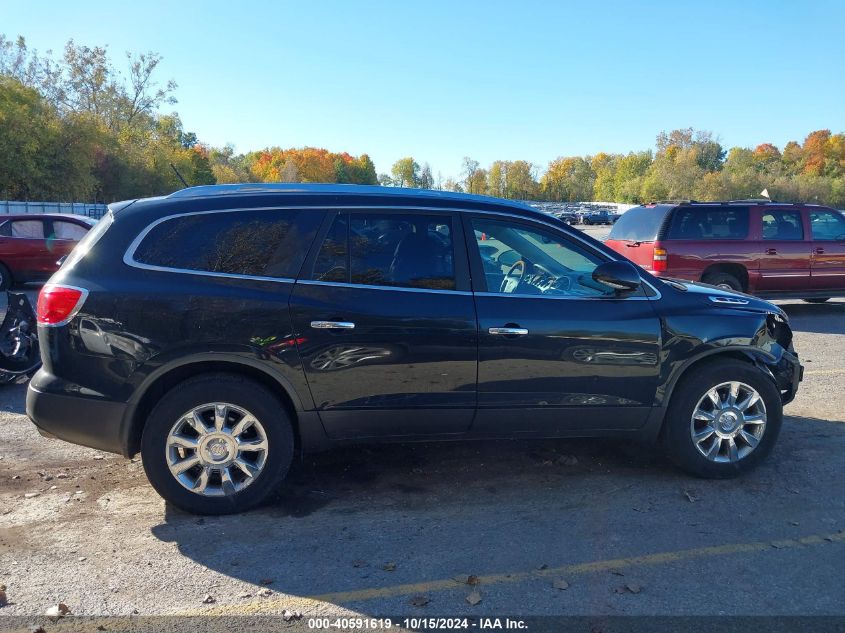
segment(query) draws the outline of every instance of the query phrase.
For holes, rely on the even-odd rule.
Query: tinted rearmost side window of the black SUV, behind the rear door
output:
[[[153,227],[134,258],[179,270],[294,278],[321,219],[292,209],[184,215]]]

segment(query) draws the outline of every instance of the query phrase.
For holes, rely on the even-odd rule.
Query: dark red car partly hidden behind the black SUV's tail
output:
[[[0,290],[47,281],[96,222],[66,213],[0,216]]]

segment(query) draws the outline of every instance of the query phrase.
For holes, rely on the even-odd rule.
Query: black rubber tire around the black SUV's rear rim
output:
[[[267,436],[267,458],[261,472],[248,486],[226,496],[191,492],[171,474],[166,459],[167,436],[173,425],[186,412],[211,402],[246,409]],[[237,374],[202,374],[176,385],[150,413],[141,439],[144,471],[153,488],[169,503],[194,514],[232,514],[258,505],[287,475],[293,452],[293,425],[282,403],[262,385]]]

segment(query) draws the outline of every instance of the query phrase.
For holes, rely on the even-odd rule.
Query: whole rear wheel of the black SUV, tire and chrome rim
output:
[[[141,441],[150,483],[196,514],[241,512],[263,501],[293,459],[293,427],[263,386],[234,374],[180,383],[153,409]]]

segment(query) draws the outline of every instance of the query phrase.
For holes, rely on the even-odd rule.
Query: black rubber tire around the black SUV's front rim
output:
[[[735,462],[714,462],[702,455],[692,439],[691,423],[698,401],[710,389],[725,382],[740,381],[760,394],[766,407],[766,426],[760,443]],[[672,394],[663,423],[664,447],[681,469],[698,477],[722,479],[747,472],[762,462],[777,441],[783,423],[780,393],[771,378],[754,365],[738,360],[717,360],[693,367]]]

